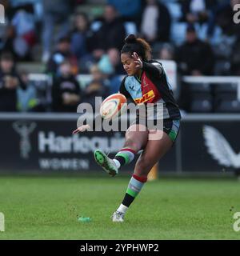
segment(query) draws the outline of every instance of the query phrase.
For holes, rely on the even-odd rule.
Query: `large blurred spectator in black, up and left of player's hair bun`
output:
[[[105,6],[102,26],[94,34],[94,58],[100,59],[110,48],[121,50],[125,36],[124,24],[114,6]]]

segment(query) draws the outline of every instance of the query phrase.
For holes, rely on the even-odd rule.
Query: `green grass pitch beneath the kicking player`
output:
[[[148,182],[126,214],[110,215],[129,178],[1,177],[0,239],[239,239],[240,211],[234,179],[162,178]],[[233,208],[234,207],[234,208]],[[92,222],[77,221],[77,216]]]

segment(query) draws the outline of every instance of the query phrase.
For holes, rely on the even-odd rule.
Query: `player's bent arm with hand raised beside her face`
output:
[[[152,74],[153,76],[161,76],[164,73],[162,65],[160,63],[142,62],[141,58],[139,58],[137,53],[134,53],[132,57],[134,58],[136,66],[140,67],[142,70],[145,70],[149,74]]]

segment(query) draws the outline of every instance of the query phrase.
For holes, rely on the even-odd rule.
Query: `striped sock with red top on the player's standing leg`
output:
[[[138,193],[142,190],[142,186],[147,181],[146,177],[139,177],[138,175],[133,174],[130,182],[128,184],[125,197],[123,198],[122,204],[118,207],[118,211],[126,213],[126,210],[130,206],[134,199],[137,197]],[[126,208],[124,208],[125,206]]]

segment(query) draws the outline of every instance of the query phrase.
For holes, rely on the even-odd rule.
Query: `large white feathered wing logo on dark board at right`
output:
[[[240,167],[240,152],[236,154],[230,143],[226,141],[220,132],[212,126],[203,127],[203,137],[208,153],[218,161],[219,164],[226,167]]]

